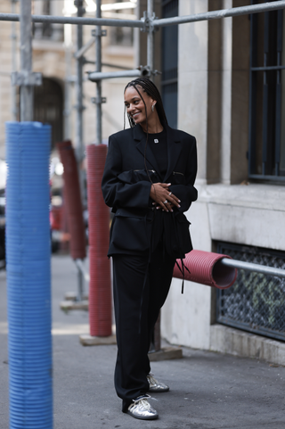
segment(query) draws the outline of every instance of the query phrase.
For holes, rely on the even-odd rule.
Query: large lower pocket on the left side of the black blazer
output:
[[[144,217],[118,210],[113,220],[110,243],[121,250],[144,252],[149,249],[148,224]]]

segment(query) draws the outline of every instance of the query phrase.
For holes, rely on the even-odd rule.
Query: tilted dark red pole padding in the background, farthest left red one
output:
[[[64,168],[64,198],[70,233],[70,253],[74,260],[84,260],[86,256],[85,227],[77,161],[73,146],[69,140],[58,143],[57,147],[59,149],[61,162]]]

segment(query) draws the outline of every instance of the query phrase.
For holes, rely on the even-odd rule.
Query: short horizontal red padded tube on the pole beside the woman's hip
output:
[[[221,264],[223,258],[232,259],[228,255],[214,252],[204,252],[193,250],[186,254],[183,263],[187,269],[184,269],[185,280],[201,283],[202,285],[214,286],[218,289],[226,289],[235,282],[238,270],[237,268],[226,267]],[[181,268],[181,261],[177,260]],[[183,278],[182,272],[176,266],[173,276]]]

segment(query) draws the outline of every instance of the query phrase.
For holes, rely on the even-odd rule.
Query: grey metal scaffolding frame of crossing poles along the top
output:
[[[14,0],[12,0],[14,1]],[[203,12],[192,15],[176,16],[172,18],[158,19],[153,12],[154,0],[147,0],[147,11],[143,13],[141,20],[115,20],[106,19],[101,16],[102,0],[96,0],[96,17],[85,18],[83,0],[76,0],[77,17],[51,16],[51,15],[32,15],[31,0],[20,1],[20,14],[0,13],[0,21],[20,21],[20,72],[13,71],[12,84],[20,86],[20,112],[21,120],[32,120],[33,111],[33,91],[32,87],[41,85],[42,77],[40,73],[32,73],[32,35],[31,25],[33,22],[51,22],[58,24],[77,25],[77,161],[80,163],[84,157],[83,144],[83,54],[95,42],[95,64],[96,70],[90,72],[88,79],[96,82],[96,139],[95,144],[102,143],[102,103],[105,99],[102,97],[102,80],[105,78],[125,78],[148,76],[152,78],[156,74],[153,70],[154,40],[153,33],[160,27],[178,25],[184,23],[209,21],[227,17],[246,15],[257,12],[270,12],[278,9],[285,9],[285,0],[278,0],[272,3],[252,4],[232,9],[222,9],[212,12]],[[89,45],[83,45],[83,25],[95,26],[94,41]],[[147,32],[147,65],[141,70],[114,71],[109,73],[102,72],[102,26],[109,27],[131,27],[141,29]],[[66,111],[66,109],[65,109]],[[81,187],[83,179],[80,180]]]

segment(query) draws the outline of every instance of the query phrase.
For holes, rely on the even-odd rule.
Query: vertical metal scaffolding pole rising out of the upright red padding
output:
[[[96,0],[96,18],[101,18],[101,0]],[[95,46],[96,46],[96,72],[102,71],[102,28],[98,25],[95,29]],[[102,143],[102,80],[96,81],[96,140],[95,144]]]

